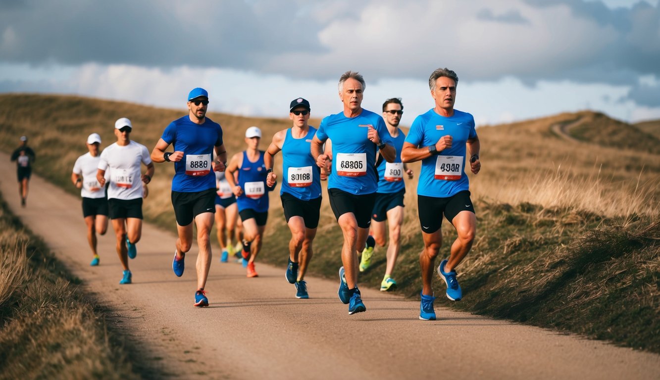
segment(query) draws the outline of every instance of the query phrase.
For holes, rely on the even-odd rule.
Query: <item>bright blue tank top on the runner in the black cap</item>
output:
[[[302,139],[291,135],[291,128],[286,130],[282,143],[282,187],[280,195],[288,193],[294,197],[309,201],[321,197],[321,168],[316,166],[310,143],[316,128],[310,130]]]

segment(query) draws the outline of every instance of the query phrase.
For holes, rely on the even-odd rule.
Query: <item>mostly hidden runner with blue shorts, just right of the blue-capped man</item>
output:
[[[222,248],[220,263],[229,261],[229,255],[234,256],[234,237],[236,236],[236,220],[238,219],[238,205],[232,187],[224,177],[224,172],[215,172],[215,224],[218,234],[218,243]]]

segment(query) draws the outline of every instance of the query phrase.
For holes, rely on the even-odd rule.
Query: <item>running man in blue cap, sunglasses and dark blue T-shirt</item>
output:
[[[211,269],[211,228],[215,212],[216,184],[214,171],[223,172],[227,152],[222,143],[222,128],[206,117],[209,93],[193,88],[188,93],[188,114],[165,128],[151,152],[155,162],[174,162],[172,206],[176,216],[176,249],[172,270],[183,275],[185,254],[193,243],[193,221],[197,227],[197,290],[194,306],[209,305],[206,282]],[[174,152],[165,150],[172,144]],[[216,158],[213,159],[215,150]]]

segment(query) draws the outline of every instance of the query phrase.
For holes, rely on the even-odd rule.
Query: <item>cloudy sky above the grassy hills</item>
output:
[[[456,108],[493,124],[598,110],[660,119],[659,0],[0,2],[0,92],[79,94],[287,117],[341,111],[337,80],[367,82],[364,108],[433,106],[428,76],[459,76]],[[220,123],[222,121],[220,120]]]

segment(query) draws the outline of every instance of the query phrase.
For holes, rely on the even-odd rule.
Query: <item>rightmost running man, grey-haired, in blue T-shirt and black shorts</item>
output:
[[[424,250],[419,257],[423,284],[419,319],[424,320],[436,319],[431,280],[442,245],[442,214],[458,234],[451,244],[449,259],[442,260],[438,267],[438,274],[447,285],[449,300],[463,298],[455,268],[470,251],[477,232],[475,207],[464,168],[469,163],[470,170],[479,173],[481,145],[475,131],[475,118],[454,109],[457,84],[456,73],[447,68],[436,69],[431,74],[428,85],[435,107],[414,119],[401,151],[403,162],[422,160],[417,207],[424,239]],[[465,160],[467,149],[469,160]]]

